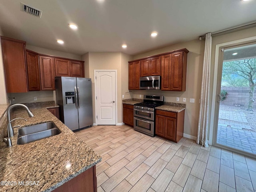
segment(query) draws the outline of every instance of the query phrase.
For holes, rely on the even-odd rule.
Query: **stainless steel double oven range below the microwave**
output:
[[[134,104],[134,129],[155,136],[155,108],[164,104],[164,96],[144,95],[143,102]]]

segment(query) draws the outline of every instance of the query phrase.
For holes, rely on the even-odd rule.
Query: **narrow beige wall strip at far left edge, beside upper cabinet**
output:
[[[0,28],[0,35],[3,35],[1,28]],[[8,97],[6,94],[6,87],[5,87],[5,80],[4,80],[4,64],[3,64],[3,57],[2,57],[2,46],[0,46],[0,90],[1,90],[0,104],[9,103]]]

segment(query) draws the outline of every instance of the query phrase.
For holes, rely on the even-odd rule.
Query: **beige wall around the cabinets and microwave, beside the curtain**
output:
[[[204,41],[192,40],[180,44],[175,44],[158,50],[150,51],[144,54],[134,56],[133,59],[144,58],[172,50],[187,48],[189,50],[187,59],[187,74],[186,74],[186,91],[161,91],[161,90],[133,90],[134,98],[139,98],[140,94],[157,94],[164,96],[164,101],[177,102],[176,97],[180,98],[178,103],[185,103],[185,119],[184,119],[184,134],[196,136],[198,126],[199,99],[202,82],[202,64],[204,57]],[[186,102],[183,102],[186,98]],[[195,103],[190,103],[189,99],[194,98]]]

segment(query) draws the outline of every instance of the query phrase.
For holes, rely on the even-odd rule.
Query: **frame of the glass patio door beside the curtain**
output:
[[[219,104],[217,103],[218,94],[220,92],[220,80],[222,78],[222,62],[223,62],[223,53],[222,48],[234,48],[239,47],[244,44],[251,44],[256,42],[256,36],[245,38],[241,40],[236,40],[232,42],[226,42],[222,44],[216,44],[215,47],[215,60],[214,60],[214,82],[212,87],[212,105],[210,112],[210,128],[209,128],[209,144],[212,146],[216,146],[219,148],[223,148],[226,150],[230,150],[232,152],[236,152],[238,154],[246,155],[252,158],[256,158],[256,155],[238,150],[235,148],[231,148],[228,146],[224,146],[222,144],[217,144],[217,131],[218,131],[218,115],[219,115]]]

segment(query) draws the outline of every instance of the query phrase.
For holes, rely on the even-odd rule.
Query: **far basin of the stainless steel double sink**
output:
[[[41,124],[27,126],[27,127],[18,129],[18,135],[28,135],[36,132],[49,130],[52,128],[56,128],[56,125],[53,122],[41,123]]]

